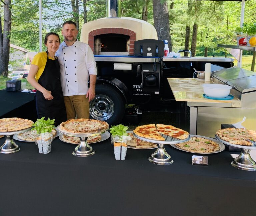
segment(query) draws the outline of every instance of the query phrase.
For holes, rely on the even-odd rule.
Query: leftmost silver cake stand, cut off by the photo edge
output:
[[[19,151],[20,147],[13,141],[13,139],[12,139],[13,135],[18,134],[18,133],[24,133],[28,130],[31,130],[32,127],[29,127],[27,129],[23,129],[23,130],[13,131],[13,132],[0,132],[0,135],[4,135],[4,137],[5,137],[5,142],[0,147],[0,153],[11,154],[11,153],[15,153],[15,152]]]

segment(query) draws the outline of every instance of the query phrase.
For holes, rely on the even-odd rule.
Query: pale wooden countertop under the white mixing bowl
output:
[[[212,100],[203,97],[202,84],[214,83],[198,78],[167,78],[176,101],[187,101],[190,106],[240,107],[241,101],[234,96],[232,100]]]

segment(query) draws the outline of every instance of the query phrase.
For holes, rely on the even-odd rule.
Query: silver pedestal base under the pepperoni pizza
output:
[[[157,165],[170,165],[173,163],[171,156],[166,152],[164,144],[157,144],[157,150],[148,158],[149,162]]]

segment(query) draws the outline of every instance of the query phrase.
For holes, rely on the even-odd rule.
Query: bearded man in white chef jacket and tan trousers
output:
[[[60,63],[61,86],[67,110],[67,119],[89,118],[89,102],[95,97],[96,62],[88,44],[76,39],[76,23],[66,21],[61,33],[64,41],[56,56]],[[90,88],[88,80],[90,76]]]

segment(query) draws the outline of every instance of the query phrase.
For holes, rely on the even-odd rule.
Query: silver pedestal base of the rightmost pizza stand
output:
[[[251,158],[250,149],[241,148],[241,154],[231,162],[231,165],[242,170],[256,171],[256,163]]]

